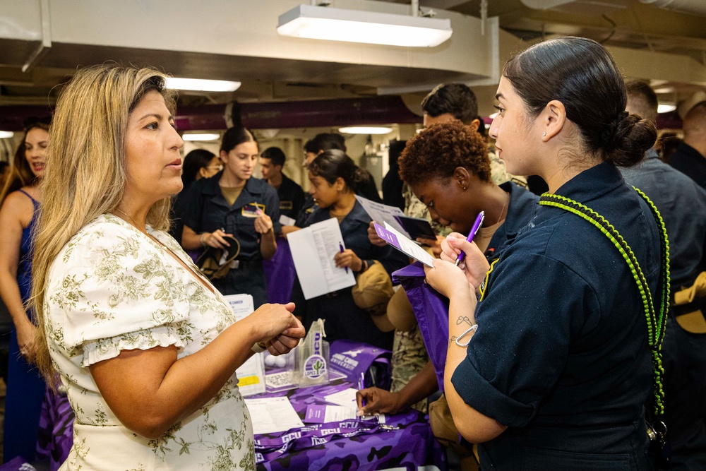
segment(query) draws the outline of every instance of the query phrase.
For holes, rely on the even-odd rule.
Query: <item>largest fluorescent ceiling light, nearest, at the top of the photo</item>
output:
[[[453,30],[447,18],[299,5],[280,15],[277,32],[312,40],[434,47],[448,40]]]

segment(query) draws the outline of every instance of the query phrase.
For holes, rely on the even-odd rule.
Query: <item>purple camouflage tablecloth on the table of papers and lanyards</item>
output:
[[[343,380],[333,381],[327,386],[311,386],[285,391],[265,393],[253,397],[277,397],[287,395],[294,410],[304,419],[309,405],[325,405],[324,395],[341,388],[354,387]],[[339,422],[324,424],[331,429]],[[297,429],[278,434],[256,435],[255,439],[274,439]],[[264,441],[264,440],[263,440]],[[312,440],[316,441],[316,440]],[[272,460],[258,460],[258,470],[385,470],[388,468],[417,471],[419,466],[436,465],[439,470],[448,469],[444,452],[434,439],[429,427],[429,417],[410,410],[404,414],[388,415],[384,427],[370,434],[359,434],[348,438],[333,436],[328,443],[312,445],[311,441],[297,440],[285,454]],[[256,452],[257,450],[256,446]],[[256,456],[258,454],[256,453]],[[260,455],[258,458],[262,458]]]

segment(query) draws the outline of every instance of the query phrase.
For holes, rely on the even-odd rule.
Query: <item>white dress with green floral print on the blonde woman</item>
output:
[[[193,266],[172,237],[148,232]],[[49,352],[76,412],[61,470],[254,470],[253,427],[233,375],[209,403],[160,439],[126,429],[88,366],[121,350],[201,350],[235,319],[167,251],[127,222],[101,215],[64,246],[49,270],[44,311]]]

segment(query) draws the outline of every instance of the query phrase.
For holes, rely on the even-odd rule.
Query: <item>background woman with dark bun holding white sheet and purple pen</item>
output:
[[[336,266],[359,274],[378,261],[390,274],[409,263],[404,254],[391,246],[374,246],[368,240],[371,218],[355,198],[356,185],[366,178],[364,169],[357,167],[342,150],[325,150],[308,168],[311,182],[309,193],[318,208],[304,222],[304,227],[331,217],[338,220],[346,249],[335,255]],[[294,283],[292,302],[297,304],[294,314],[304,319],[307,328],[317,318],[325,319],[326,339],[329,342],[347,338],[388,350],[392,347],[393,334],[382,333],[376,328],[370,314],[355,304],[351,287],[304,300],[297,281]]]

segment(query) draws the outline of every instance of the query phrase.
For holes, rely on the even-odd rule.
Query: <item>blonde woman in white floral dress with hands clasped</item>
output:
[[[34,259],[37,362],[76,412],[62,470],[254,470],[234,371],[304,335],[293,304],[243,321],[169,227],[183,142],[150,69],[79,71],[56,107]]]

